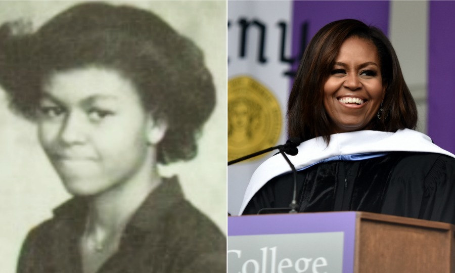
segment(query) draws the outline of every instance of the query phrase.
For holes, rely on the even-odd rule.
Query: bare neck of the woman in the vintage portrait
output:
[[[85,231],[80,238],[83,272],[96,272],[117,252],[126,224],[147,196],[161,184],[153,158],[132,177],[89,199]]]

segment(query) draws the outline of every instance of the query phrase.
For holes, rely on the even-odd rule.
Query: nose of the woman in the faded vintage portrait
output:
[[[64,119],[60,129],[60,141],[67,145],[83,144],[86,139],[84,122],[76,113]]]

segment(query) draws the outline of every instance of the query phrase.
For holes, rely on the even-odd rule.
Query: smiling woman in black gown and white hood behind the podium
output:
[[[298,211],[455,223],[455,155],[413,130],[416,104],[378,28],[345,19],[318,31],[300,62],[287,119],[289,136],[304,141],[289,157],[299,170]],[[241,212],[289,207],[294,180],[287,166],[281,156],[261,164]]]

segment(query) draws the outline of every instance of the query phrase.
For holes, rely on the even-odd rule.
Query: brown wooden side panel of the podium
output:
[[[453,225],[356,214],[354,272],[455,272]]]

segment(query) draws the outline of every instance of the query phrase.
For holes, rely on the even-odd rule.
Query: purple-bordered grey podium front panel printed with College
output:
[[[337,264],[331,272],[351,273],[355,224],[350,211],[229,217],[228,272],[324,272]]]

